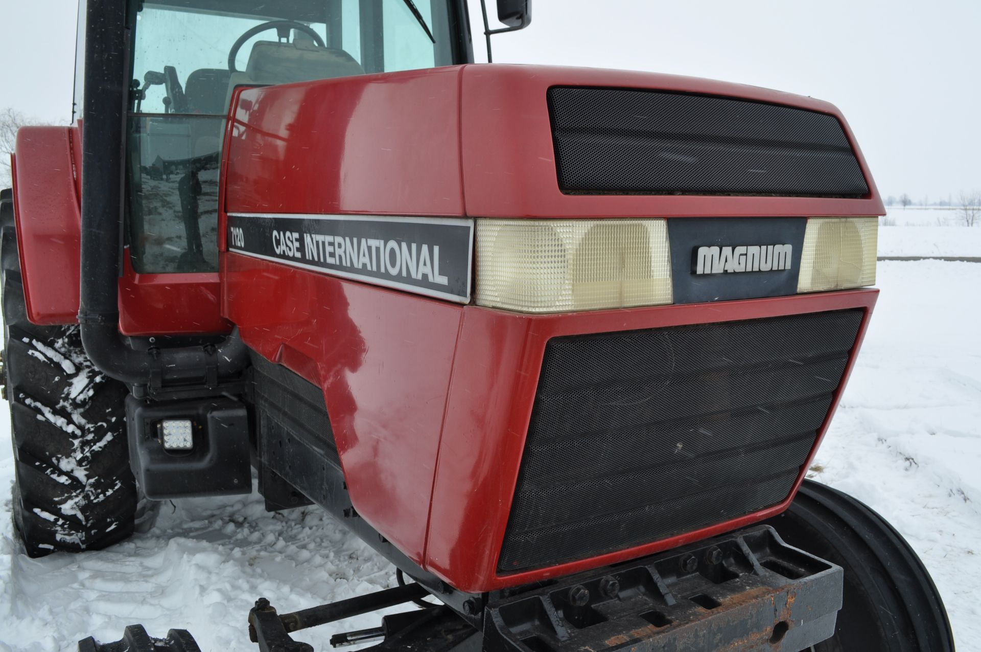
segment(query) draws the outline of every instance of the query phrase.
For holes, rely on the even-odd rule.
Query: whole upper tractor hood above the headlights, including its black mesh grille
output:
[[[650,73],[469,65],[240,91],[226,210],[876,215],[833,105]]]

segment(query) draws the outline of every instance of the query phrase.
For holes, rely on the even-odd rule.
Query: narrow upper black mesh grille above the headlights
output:
[[[706,95],[548,89],[564,192],[861,197],[834,116]]]

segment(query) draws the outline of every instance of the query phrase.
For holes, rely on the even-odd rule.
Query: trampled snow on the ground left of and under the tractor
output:
[[[391,565],[321,510],[267,514],[256,494],[164,504],[149,532],[109,550],[30,560],[13,538],[14,470],[0,445],[2,652],[74,650],[134,623],[157,636],[189,629],[206,652],[253,650],[245,619],[260,596],[288,612],[394,585]],[[330,650],[332,633],[377,625],[362,616],[300,639]]]

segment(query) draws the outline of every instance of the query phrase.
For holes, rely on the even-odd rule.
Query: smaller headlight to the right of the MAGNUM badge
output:
[[[798,292],[861,288],[875,283],[879,220],[812,217],[800,255]]]

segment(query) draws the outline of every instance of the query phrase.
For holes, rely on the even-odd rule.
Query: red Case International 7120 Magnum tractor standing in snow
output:
[[[473,65],[465,0],[79,17],[77,123],[21,130],[0,209],[26,554],[254,473],[399,579],[260,599],[262,650],[423,596],[336,643],[954,649],[903,538],[804,480],[878,292],[883,204],[834,106]]]

